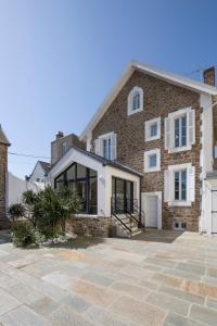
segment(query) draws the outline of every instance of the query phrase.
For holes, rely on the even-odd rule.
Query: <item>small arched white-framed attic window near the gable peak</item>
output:
[[[143,90],[140,87],[133,87],[128,96],[128,115],[143,110]]]

